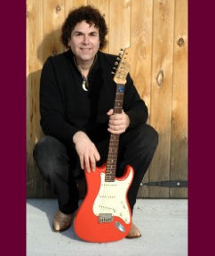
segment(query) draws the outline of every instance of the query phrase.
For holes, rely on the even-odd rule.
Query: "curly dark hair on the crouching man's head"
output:
[[[60,41],[66,47],[68,47],[68,38],[71,37],[72,30],[76,27],[76,24],[81,21],[86,21],[88,24],[95,25],[99,29],[100,33],[100,50],[105,48],[108,41],[106,36],[108,34],[108,27],[104,17],[100,11],[94,8],[92,5],[82,5],[68,13],[67,19],[64,21],[61,28]]]

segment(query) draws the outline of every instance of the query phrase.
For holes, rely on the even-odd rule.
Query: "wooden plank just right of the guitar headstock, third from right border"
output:
[[[131,2],[131,78],[139,95],[147,104],[148,111],[151,97],[152,18],[152,1]],[[148,181],[148,172],[143,181]],[[148,197],[148,186],[139,186],[138,197]]]

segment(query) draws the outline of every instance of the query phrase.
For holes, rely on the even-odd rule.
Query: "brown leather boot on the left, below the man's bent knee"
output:
[[[61,232],[67,230],[72,224],[73,214],[64,214],[60,210],[55,213],[52,227],[55,231]]]

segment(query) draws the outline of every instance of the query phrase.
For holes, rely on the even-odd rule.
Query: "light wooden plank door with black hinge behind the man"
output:
[[[105,52],[131,45],[131,77],[147,103],[159,145],[140,198],[187,198],[187,0],[27,0],[27,194],[53,197],[32,152],[43,136],[39,80],[46,58],[64,51],[60,26],[69,10],[93,4],[108,23]],[[84,196],[84,183],[81,194]]]

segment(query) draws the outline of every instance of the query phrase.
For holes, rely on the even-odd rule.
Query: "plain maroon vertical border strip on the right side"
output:
[[[188,0],[188,255],[214,251],[214,7]]]

